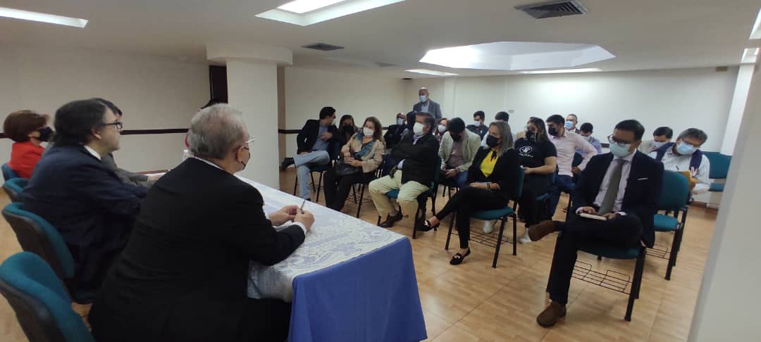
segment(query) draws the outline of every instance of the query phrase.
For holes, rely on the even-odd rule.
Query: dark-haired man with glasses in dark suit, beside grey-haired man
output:
[[[95,291],[124,248],[146,189],[123,184],[100,158],[119,149],[121,122],[103,103],[81,100],[56,111],[55,147],[34,169],[24,208],[63,236],[75,261],[71,286]]]

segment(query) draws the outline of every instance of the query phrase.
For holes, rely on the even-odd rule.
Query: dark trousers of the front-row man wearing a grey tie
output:
[[[547,292],[555,302],[568,302],[568,288],[576,264],[576,253],[581,245],[604,244],[616,247],[637,247],[642,239],[642,223],[636,215],[600,221],[577,217],[568,213],[565,223],[556,223],[561,233],[555,243],[555,255],[549,271]]]

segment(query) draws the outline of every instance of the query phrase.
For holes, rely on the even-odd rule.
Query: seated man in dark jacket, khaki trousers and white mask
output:
[[[413,134],[406,135],[391,150],[393,160],[399,160],[396,166],[388,176],[370,182],[368,188],[378,214],[380,217],[387,215],[380,226],[390,228],[396,221],[402,220],[403,215],[415,217],[418,196],[431,187],[434,172],[438,172],[438,141],[432,134],[435,127],[436,122],[430,114],[417,113]],[[391,190],[399,190],[396,202],[402,211],[396,210],[396,204],[386,196]]]

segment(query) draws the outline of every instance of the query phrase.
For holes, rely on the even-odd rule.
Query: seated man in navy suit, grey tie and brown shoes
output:
[[[635,120],[616,125],[609,138],[610,153],[593,157],[576,185],[573,210],[565,223],[543,221],[529,228],[533,241],[561,232],[555,245],[547,292],[552,302],[537,316],[549,328],[565,316],[576,252],[586,242],[636,248],[655,242],[653,215],[661,194],[664,166],[638,152],[645,128]],[[593,214],[605,220],[580,215]]]

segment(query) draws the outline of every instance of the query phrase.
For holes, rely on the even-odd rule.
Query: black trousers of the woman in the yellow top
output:
[[[436,214],[436,218],[444,220],[444,217],[457,211],[457,236],[460,236],[460,248],[466,249],[470,240],[470,217],[473,213],[501,209],[508,205],[508,201],[499,192],[466,186],[449,199],[447,205]]]

